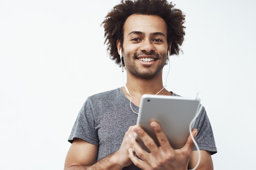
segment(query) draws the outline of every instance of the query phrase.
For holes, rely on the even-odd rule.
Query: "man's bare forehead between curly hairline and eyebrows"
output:
[[[130,15],[124,23],[124,38],[132,31],[167,34],[166,22],[158,15]]]

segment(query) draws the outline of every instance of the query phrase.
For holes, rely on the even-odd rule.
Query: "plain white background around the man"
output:
[[[62,170],[85,99],[122,86],[100,27],[119,2],[0,0],[2,170]],[[203,93],[216,170],[254,169],[256,2],[174,3],[187,28],[184,54],[170,60],[167,89],[185,97]]]

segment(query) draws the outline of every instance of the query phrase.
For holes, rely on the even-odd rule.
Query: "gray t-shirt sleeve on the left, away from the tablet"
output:
[[[99,146],[99,137],[95,130],[95,119],[90,99],[87,99],[81,108],[68,141],[72,143],[74,138],[80,138]]]

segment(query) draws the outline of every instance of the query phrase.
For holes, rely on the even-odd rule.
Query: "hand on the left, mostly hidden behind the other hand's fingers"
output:
[[[131,136],[133,136],[133,134],[135,133],[132,130],[133,128],[134,126],[130,126],[128,128],[127,132],[124,135],[124,139],[122,141],[122,144],[119,150],[117,150],[117,152],[113,154],[113,156],[115,156],[116,158],[117,163],[121,167],[126,167],[132,164],[132,161],[130,160],[130,157],[129,157],[128,149],[132,147],[132,143],[130,139],[131,139]]]

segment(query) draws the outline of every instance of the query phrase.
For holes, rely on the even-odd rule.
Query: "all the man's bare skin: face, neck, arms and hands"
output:
[[[123,48],[126,63],[126,86],[132,95],[132,102],[137,106],[141,95],[156,94],[163,88],[161,67],[166,62],[167,49],[171,49],[171,44],[167,44],[166,32],[166,24],[159,16],[131,15],[124,24],[123,46],[117,40],[118,51]],[[136,56],[134,54],[137,54],[137,57],[133,57]],[[142,58],[153,60],[145,62],[141,61]],[[124,87],[122,89],[130,99]],[[159,95],[171,95],[171,93],[164,89]],[[150,126],[157,136],[160,147],[156,146],[153,139],[141,127],[130,126],[119,150],[98,162],[96,162],[98,146],[82,139],[74,139],[67,153],[65,170],[121,170],[131,163],[144,170],[187,170],[188,167],[192,169],[196,165],[198,151],[193,151],[194,144],[190,136],[184,147],[174,150],[161,126],[157,122],[151,122]],[[197,130],[193,129],[192,132],[195,137]],[[134,133],[137,133],[151,153],[145,152],[139,146],[133,136]],[[132,148],[142,160],[133,155]],[[213,170],[210,153],[205,150],[200,150],[200,153],[202,159],[197,170]]]

